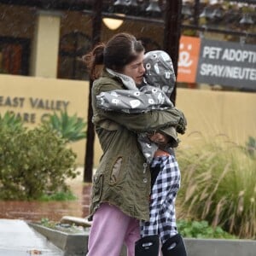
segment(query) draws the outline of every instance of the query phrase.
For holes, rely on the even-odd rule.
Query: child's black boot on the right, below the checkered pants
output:
[[[163,256],[187,256],[182,236],[177,234],[169,238],[162,246],[162,253]]]

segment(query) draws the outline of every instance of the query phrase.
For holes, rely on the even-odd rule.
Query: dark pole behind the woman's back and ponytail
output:
[[[102,32],[102,5],[103,0],[93,1],[92,13],[92,46],[95,46],[101,40]],[[90,92],[89,92],[89,106],[87,117],[87,140],[84,155],[84,182],[91,182],[93,171],[93,158],[94,158],[94,140],[95,131],[94,125],[91,122],[92,107],[91,107],[91,88],[93,81],[90,79]]]

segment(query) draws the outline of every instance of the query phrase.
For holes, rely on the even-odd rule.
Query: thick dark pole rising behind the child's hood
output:
[[[174,72],[177,76],[177,60],[179,38],[181,35],[181,9],[182,0],[166,1],[166,13],[164,18],[164,50],[171,56]],[[176,84],[172,91],[171,101],[176,102]]]

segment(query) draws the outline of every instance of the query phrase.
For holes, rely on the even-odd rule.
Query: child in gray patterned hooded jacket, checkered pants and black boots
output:
[[[141,221],[143,238],[137,241],[136,255],[158,255],[160,236],[164,256],[185,256],[187,253],[183,239],[177,233],[176,227],[175,199],[180,186],[180,171],[172,148],[176,148],[179,143],[177,132],[183,134],[185,131],[186,119],[181,111],[173,107],[169,99],[176,79],[170,56],[161,50],[148,52],[144,57],[144,67],[145,78],[140,89],[127,80],[124,84],[129,90],[103,92],[97,96],[97,104],[106,110],[125,113],[173,109],[172,127],[160,133],[138,134],[138,142],[152,172],[152,191],[149,220]],[[108,70],[108,73],[118,76],[123,82],[126,79],[112,70]],[[170,137],[167,144],[157,143],[165,136]]]

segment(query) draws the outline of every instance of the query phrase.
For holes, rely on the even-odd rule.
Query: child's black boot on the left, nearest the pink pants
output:
[[[159,236],[144,236],[135,243],[135,256],[158,256]]]

